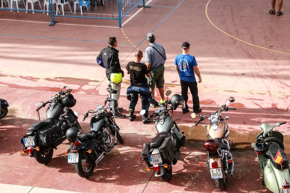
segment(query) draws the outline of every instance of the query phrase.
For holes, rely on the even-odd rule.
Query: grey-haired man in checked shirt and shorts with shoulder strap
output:
[[[166,60],[166,54],[164,47],[161,44],[155,42],[155,36],[153,33],[147,34],[147,41],[149,47],[145,50],[145,64],[150,71],[150,78],[148,79],[148,85],[155,99],[155,85],[160,93],[160,104],[164,104],[164,63]],[[156,107],[150,104],[152,107]]]

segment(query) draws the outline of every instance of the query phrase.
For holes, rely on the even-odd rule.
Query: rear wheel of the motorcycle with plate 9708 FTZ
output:
[[[82,151],[79,152],[79,162],[75,165],[75,171],[80,177],[87,178],[93,174],[95,164],[89,162],[86,154]]]

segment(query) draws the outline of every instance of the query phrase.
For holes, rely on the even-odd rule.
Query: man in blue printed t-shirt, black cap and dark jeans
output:
[[[180,77],[181,95],[185,101],[185,109],[182,109],[183,113],[189,112],[189,107],[187,105],[188,88],[192,95],[193,112],[200,113],[202,109],[200,109],[199,98],[197,95],[197,82],[195,80],[194,72],[198,76],[199,83],[201,82],[201,76],[195,57],[188,54],[189,46],[190,44],[188,42],[182,43],[182,54],[175,58],[175,69]]]

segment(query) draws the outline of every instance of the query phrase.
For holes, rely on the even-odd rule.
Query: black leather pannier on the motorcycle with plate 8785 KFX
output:
[[[45,126],[38,131],[38,144],[41,147],[48,147],[57,138],[57,126]]]

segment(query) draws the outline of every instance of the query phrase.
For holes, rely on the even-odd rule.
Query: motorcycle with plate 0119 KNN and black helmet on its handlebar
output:
[[[165,95],[167,100],[164,106],[160,106],[155,110],[155,113],[150,114],[144,121],[153,119],[155,122],[155,128],[158,131],[158,135],[151,139],[150,142],[144,143],[141,157],[147,163],[147,171],[153,168],[155,171],[155,177],[160,177],[163,181],[169,181],[172,177],[172,165],[175,165],[180,155],[180,147],[185,142],[185,136],[180,134],[180,130],[177,127],[173,117],[169,114],[169,111],[173,113],[173,110],[178,105],[182,105],[184,108],[185,102],[181,95],[175,94],[171,100],[168,100],[168,96],[171,91],[167,91]],[[168,105],[172,105],[169,106]],[[167,108],[168,107],[168,108]],[[145,110],[140,112],[141,115],[145,114]],[[184,134],[184,132],[182,132]]]

